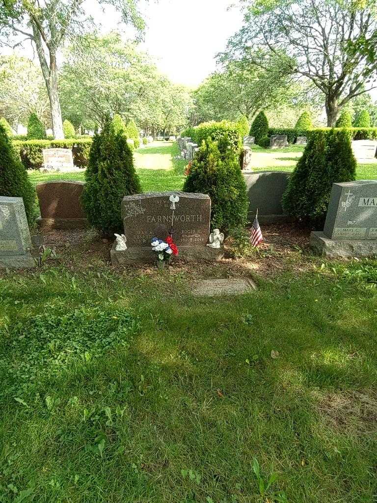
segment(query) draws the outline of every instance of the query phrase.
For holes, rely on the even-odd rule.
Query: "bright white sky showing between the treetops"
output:
[[[195,87],[215,69],[215,55],[241,27],[242,15],[238,9],[227,11],[230,4],[231,0],[150,0],[141,47],[174,83]],[[111,16],[104,20],[92,7],[88,11],[102,18],[104,32],[116,28]]]

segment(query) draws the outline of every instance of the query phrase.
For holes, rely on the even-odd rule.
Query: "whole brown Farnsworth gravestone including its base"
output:
[[[169,200],[172,194],[179,197],[175,210]],[[155,261],[150,245],[152,237],[165,240],[172,222],[180,258],[216,260],[224,255],[223,248],[207,246],[211,218],[211,199],[207,194],[151,192],[126,196],[122,201],[122,217],[128,248],[116,251],[114,243],[113,265]]]

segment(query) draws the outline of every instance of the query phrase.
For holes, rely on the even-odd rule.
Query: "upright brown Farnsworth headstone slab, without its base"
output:
[[[126,196],[122,202],[124,233],[129,248],[150,246],[152,237],[165,239],[171,227],[177,246],[203,245],[210,233],[211,199],[206,194],[177,192],[179,202],[171,209],[172,192]]]

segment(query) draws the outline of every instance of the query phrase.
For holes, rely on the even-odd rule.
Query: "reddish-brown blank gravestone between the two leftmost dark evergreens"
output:
[[[39,226],[44,230],[86,227],[87,220],[81,206],[84,185],[84,182],[70,180],[37,184],[41,210]]]

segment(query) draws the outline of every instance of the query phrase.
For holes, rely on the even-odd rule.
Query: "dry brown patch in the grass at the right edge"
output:
[[[320,400],[318,410],[338,430],[377,432],[377,393],[372,390],[327,394]]]

